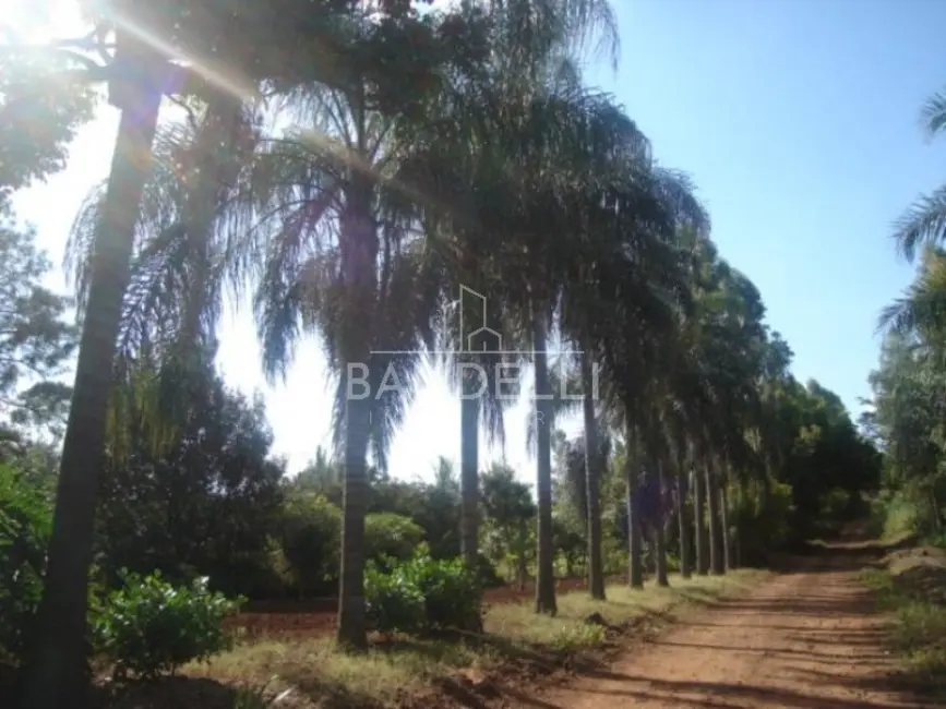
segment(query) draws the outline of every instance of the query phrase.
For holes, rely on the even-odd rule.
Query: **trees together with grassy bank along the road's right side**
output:
[[[930,137],[946,125],[943,94],[922,122]],[[893,551],[865,572],[891,614],[891,642],[911,688],[946,696],[946,202],[943,189],[917,201],[894,233],[919,261],[913,283],[881,317],[885,340],[871,375],[863,429],[883,452],[871,531]]]

